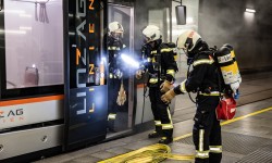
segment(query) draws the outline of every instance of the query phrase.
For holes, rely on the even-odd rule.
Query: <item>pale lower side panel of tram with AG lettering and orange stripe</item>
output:
[[[58,98],[58,100],[11,105],[7,103],[24,102],[24,100],[0,102],[0,162],[62,145],[63,124],[46,124],[63,120],[63,98]]]

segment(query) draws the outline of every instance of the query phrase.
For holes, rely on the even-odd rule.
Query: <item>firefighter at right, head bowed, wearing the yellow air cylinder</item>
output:
[[[214,63],[212,51],[194,30],[186,30],[177,38],[177,48],[187,55],[193,71],[187,79],[161,97],[170,102],[176,95],[197,92],[197,110],[194,117],[193,139],[196,148],[196,163],[220,163],[222,159],[222,140],[220,121],[215,109],[220,101],[220,74]]]

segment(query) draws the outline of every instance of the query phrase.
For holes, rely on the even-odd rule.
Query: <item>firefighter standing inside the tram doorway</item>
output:
[[[124,105],[126,95],[123,87],[123,68],[121,63],[121,52],[124,50],[123,43],[123,26],[119,22],[109,24],[109,32],[107,36],[106,49],[109,55],[109,114],[108,128],[110,131],[116,131],[114,128],[114,121],[116,118],[116,111],[120,105]],[[123,88],[122,95],[119,95],[119,89]]]

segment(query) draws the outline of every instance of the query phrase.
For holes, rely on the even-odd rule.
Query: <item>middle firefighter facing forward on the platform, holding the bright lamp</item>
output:
[[[173,141],[173,123],[169,104],[161,101],[161,96],[171,89],[177,65],[173,49],[162,42],[159,27],[149,25],[143,30],[145,45],[141,48],[145,71],[149,74],[147,86],[154,118],[156,130],[149,138],[161,137],[159,143]],[[141,78],[141,71],[137,71],[136,78]]]

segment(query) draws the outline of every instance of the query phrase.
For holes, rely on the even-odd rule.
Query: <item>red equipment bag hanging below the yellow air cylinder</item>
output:
[[[217,108],[218,120],[232,120],[236,113],[236,101],[233,98],[222,99]]]

